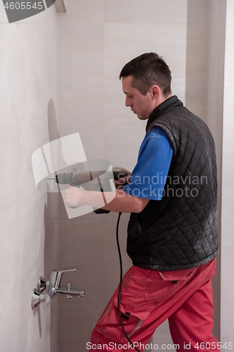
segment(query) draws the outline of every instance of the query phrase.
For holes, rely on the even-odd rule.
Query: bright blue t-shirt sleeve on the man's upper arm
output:
[[[171,164],[173,146],[161,127],[153,127],[145,134],[131,183],[124,191],[139,198],[160,201]]]

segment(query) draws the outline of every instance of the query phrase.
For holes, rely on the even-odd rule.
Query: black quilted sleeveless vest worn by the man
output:
[[[145,269],[194,268],[218,254],[214,139],[177,96],[152,112],[146,131],[155,126],[171,139],[171,166],[162,200],[131,213],[127,253],[134,265]]]

